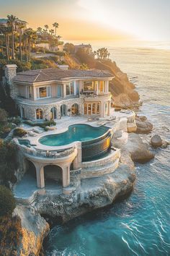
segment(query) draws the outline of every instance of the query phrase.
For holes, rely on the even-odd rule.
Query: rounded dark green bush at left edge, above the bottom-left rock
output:
[[[0,185],[0,216],[11,215],[16,202],[11,190]]]

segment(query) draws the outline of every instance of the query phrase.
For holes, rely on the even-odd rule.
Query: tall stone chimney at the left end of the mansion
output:
[[[10,88],[10,95],[12,98],[17,96],[17,86],[14,85],[13,79],[17,76],[17,65],[8,64],[4,67],[5,82]]]

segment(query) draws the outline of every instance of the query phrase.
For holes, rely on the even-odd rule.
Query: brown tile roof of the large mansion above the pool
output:
[[[63,80],[69,77],[109,78],[114,77],[114,75],[107,70],[99,69],[36,69],[17,73],[17,76],[14,77],[14,82],[46,82],[54,80]]]

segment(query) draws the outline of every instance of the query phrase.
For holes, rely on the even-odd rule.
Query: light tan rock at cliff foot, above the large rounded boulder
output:
[[[138,134],[148,134],[153,129],[153,124],[151,124],[146,116],[135,116],[135,122],[137,125],[136,133]]]

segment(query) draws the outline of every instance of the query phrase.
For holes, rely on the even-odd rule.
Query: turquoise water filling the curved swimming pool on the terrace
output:
[[[68,127],[66,132],[58,135],[47,135],[42,137],[39,142],[47,146],[68,145],[75,141],[94,140],[104,135],[108,131],[107,127],[91,127],[87,124],[74,124]]]

